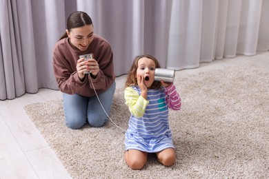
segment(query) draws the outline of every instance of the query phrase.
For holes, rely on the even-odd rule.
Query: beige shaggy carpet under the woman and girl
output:
[[[141,171],[129,169],[121,129],[111,122],[68,129],[61,100],[25,110],[72,178],[269,178],[269,71],[240,65],[177,76],[175,84],[183,108],[170,112],[172,167],[150,155]],[[123,88],[117,89],[111,118],[127,129],[129,116]]]

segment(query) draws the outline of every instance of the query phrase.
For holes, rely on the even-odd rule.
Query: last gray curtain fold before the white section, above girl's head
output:
[[[153,6],[152,6],[153,5]],[[168,50],[168,34],[172,1],[145,1],[143,51],[145,54],[155,54],[161,67],[166,67]]]

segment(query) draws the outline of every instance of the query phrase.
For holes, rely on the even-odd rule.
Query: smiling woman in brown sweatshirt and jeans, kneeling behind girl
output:
[[[79,129],[88,121],[92,127],[101,127],[108,120],[116,87],[112,49],[106,39],[94,34],[92,19],[86,12],[70,14],[66,27],[53,52],[66,125]],[[79,58],[84,54],[92,54],[93,58]]]

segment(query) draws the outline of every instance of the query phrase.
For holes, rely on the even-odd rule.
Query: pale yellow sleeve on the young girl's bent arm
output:
[[[149,101],[139,96],[139,93],[135,89],[132,89],[132,87],[126,87],[124,98],[131,114],[136,118],[141,118],[145,113]]]

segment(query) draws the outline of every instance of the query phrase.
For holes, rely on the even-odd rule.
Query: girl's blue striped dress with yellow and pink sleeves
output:
[[[137,149],[155,153],[174,148],[168,123],[168,107],[181,108],[181,98],[175,85],[148,89],[147,100],[140,96],[139,86],[126,87],[124,98],[131,112],[126,131],[126,150]]]

